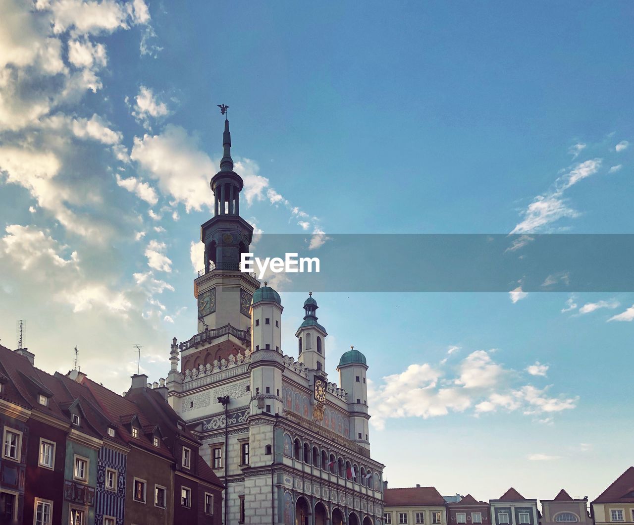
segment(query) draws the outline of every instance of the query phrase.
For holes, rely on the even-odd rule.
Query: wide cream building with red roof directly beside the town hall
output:
[[[385,489],[385,525],[446,525],[443,496],[434,487]]]

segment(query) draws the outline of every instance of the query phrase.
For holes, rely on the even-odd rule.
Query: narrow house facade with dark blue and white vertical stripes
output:
[[[113,517],[116,525],[124,524],[126,507],[126,454],[102,446],[97,463],[94,525],[103,525],[103,517]],[[117,471],[117,489],[106,488],[106,469]]]

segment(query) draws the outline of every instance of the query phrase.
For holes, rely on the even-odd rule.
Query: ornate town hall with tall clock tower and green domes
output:
[[[370,457],[366,358],[351,348],[340,356],[339,384],[328,380],[328,333],[312,294],[297,348],[282,347],[280,295],[240,270],[253,228],[240,217],[228,120],[223,150],[210,183],[214,216],[200,230],[198,333],[173,340],[169,403],[225,484],[224,523],[382,525],[384,465]]]

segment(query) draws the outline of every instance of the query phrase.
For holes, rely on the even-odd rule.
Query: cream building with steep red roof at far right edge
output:
[[[627,469],[590,504],[596,525],[634,524],[634,467]]]

